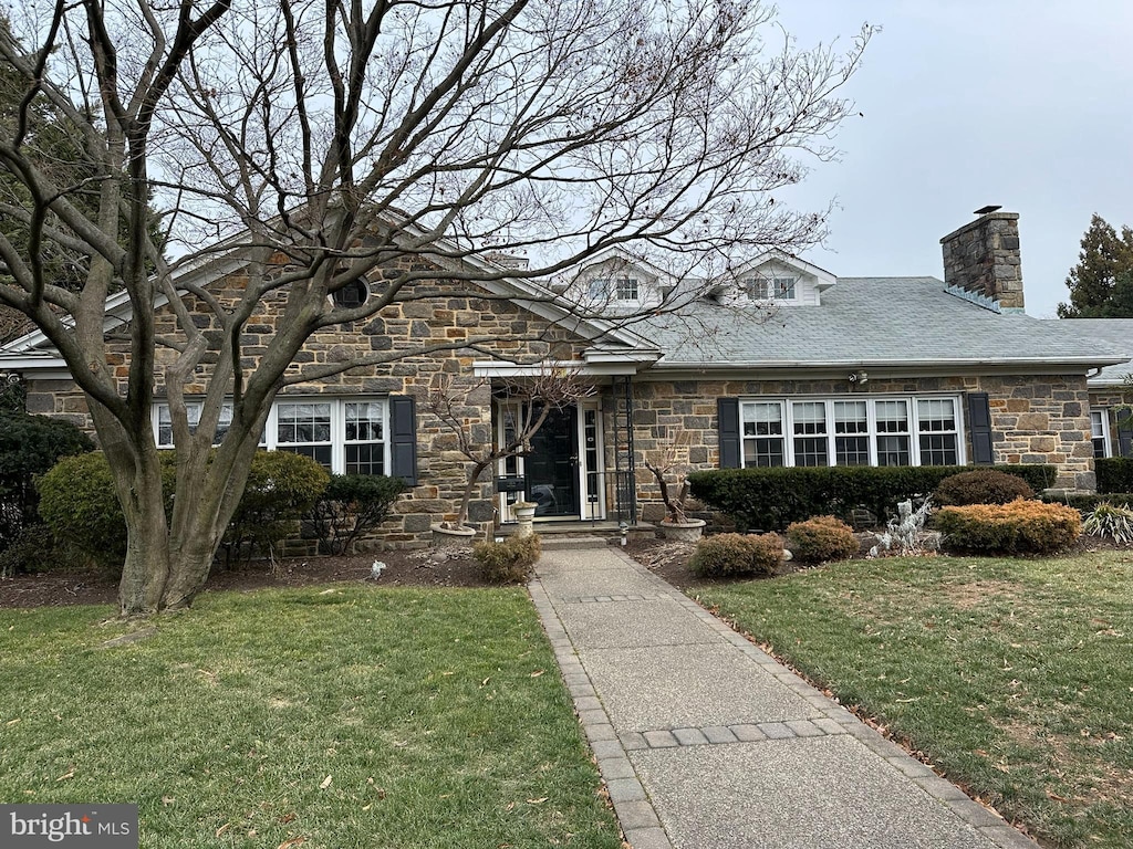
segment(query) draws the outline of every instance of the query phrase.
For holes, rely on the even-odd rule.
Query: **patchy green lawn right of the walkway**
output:
[[[1130,844],[1128,552],[855,560],[696,594],[1050,844]]]

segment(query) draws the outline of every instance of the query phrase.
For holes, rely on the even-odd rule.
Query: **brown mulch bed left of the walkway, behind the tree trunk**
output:
[[[230,569],[214,568],[205,592],[248,591],[265,586],[307,586],[338,581],[370,581],[374,561],[385,564],[376,586],[486,586],[469,549],[380,551],[350,557],[253,560]],[[0,608],[60,604],[113,604],[118,580],[97,569],[60,566],[37,575],[0,580]]]

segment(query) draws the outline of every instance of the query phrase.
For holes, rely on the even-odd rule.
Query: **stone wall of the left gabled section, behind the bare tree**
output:
[[[245,281],[233,275],[213,288],[219,298],[235,300]],[[460,289],[467,291],[467,285]],[[395,506],[395,517],[383,530],[385,544],[390,547],[412,547],[425,544],[429,538],[429,525],[457,517],[460,499],[467,481],[469,464],[455,451],[455,439],[435,417],[429,415],[421,404],[428,387],[438,376],[453,379],[453,389],[467,392],[461,411],[465,423],[474,439],[488,441],[492,438],[492,393],[483,381],[472,378],[474,360],[487,359],[482,351],[457,349],[427,357],[412,355],[432,342],[448,343],[453,340],[494,337],[482,349],[501,358],[519,358],[525,361],[554,359],[572,360],[585,348],[582,340],[572,336],[561,327],[526,311],[514,303],[499,298],[450,297],[444,282],[419,284],[412,292],[414,300],[383,309],[368,321],[357,321],[316,333],[289,374],[307,363],[344,362],[357,354],[372,351],[404,352],[406,358],[389,365],[353,368],[347,372],[313,383],[288,386],[286,395],[414,395],[418,398],[418,482]],[[453,291],[450,289],[450,291]],[[191,299],[190,299],[191,300]],[[242,363],[252,369],[266,352],[267,340],[275,332],[282,317],[283,295],[267,299],[259,312],[248,323],[241,337]],[[208,311],[201,303],[190,303],[201,319],[205,332],[215,332],[211,326]],[[163,310],[157,318],[157,334],[174,329],[171,311]],[[113,348],[108,354],[108,363],[116,369],[119,381],[125,381],[128,345]],[[159,351],[159,363],[171,360],[171,354]],[[213,360],[215,361],[215,360]],[[207,386],[210,368],[198,369],[197,383],[186,386],[187,395],[201,395]],[[157,368],[161,375],[161,366]],[[155,389],[160,400],[164,395],[160,383]],[[467,388],[463,388],[467,387]],[[70,380],[28,381],[27,406],[29,412],[51,414],[71,421],[80,428],[94,432],[86,398]],[[485,474],[478,498],[470,505],[469,520],[484,528],[495,517],[492,494],[492,474]]]

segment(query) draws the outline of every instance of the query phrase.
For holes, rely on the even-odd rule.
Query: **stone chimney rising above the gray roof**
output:
[[[1003,312],[1023,311],[1019,213],[986,213],[948,233],[940,245],[948,289]]]

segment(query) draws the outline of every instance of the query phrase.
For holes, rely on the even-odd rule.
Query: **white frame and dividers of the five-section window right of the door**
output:
[[[920,420],[918,418],[918,402],[920,401],[948,401],[952,403],[952,410],[954,413],[955,430],[948,431],[925,431],[925,434],[955,434],[956,436],[956,465],[965,465],[968,462],[966,457],[966,445],[965,445],[965,431],[964,431],[964,420],[963,420],[963,405],[960,403],[959,395],[943,395],[943,394],[923,394],[923,395],[870,395],[868,397],[860,395],[792,395],[784,397],[741,397],[740,398],[740,462],[744,464],[744,458],[747,457],[746,443],[752,439],[782,439],[783,440],[783,465],[784,466],[795,466],[795,439],[807,438],[812,435],[799,435],[795,434],[794,428],[794,405],[806,404],[806,403],[821,403],[825,405],[824,413],[826,417],[826,464],[827,466],[837,465],[837,443],[838,436],[845,436],[844,434],[837,434],[834,421],[834,404],[840,401],[864,401],[866,402],[866,414],[867,414],[867,431],[864,434],[854,434],[854,436],[867,436],[869,440],[869,465],[878,465],[878,449],[877,439],[879,436],[894,436],[894,434],[884,432],[879,434],[877,430],[877,403],[886,401],[901,401],[905,404],[905,413],[909,422],[908,434],[896,434],[896,436],[908,436],[909,437],[909,463],[910,465],[922,465],[921,463],[921,451],[920,451],[920,437],[922,435],[920,428]],[[780,408],[780,413],[782,415],[783,422],[783,435],[768,437],[766,435],[747,435],[746,424],[748,420],[746,418],[747,404],[773,404]],[[813,435],[818,436],[818,435]]]

